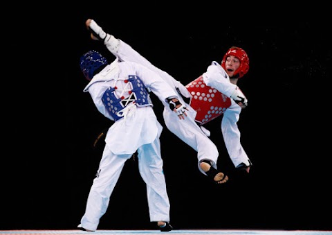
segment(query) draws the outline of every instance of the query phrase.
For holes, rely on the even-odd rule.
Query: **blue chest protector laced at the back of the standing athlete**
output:
[[[145,87],[138,76],[129,75],[128,79],[124,80],[124,82],[129,83],[129,87],[131,88],[131,90],[128,91],[129,96],[127,98],[117,97],[115,92],[116,87],[109,87],[102,96],[102,103],[104,103],[114,121],[118,121],[123,117],[121,111],[124,107],[127,107],[129,103],[133,102],[138,106],[152,106],[147,87]]]

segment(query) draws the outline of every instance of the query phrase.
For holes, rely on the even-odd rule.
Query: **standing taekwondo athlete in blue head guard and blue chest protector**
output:
[[[120,62],[118,58],[108,64],[98,51],[89,51],[82,55],[80,67],[89,80],[84,92],[89,92],[98,111],[114,123],[107,132],[98,173],[78,227],[88,232],[98,228],[124,164],[137,150],[138,171],[147,185],[150,220],[161,232],[172,230],[160,153],[163,126],[157,121],[149,92],[172,109],[176,119],[184,116],[185,106],[178,103],[178,94],[163,78],[141,64]]]

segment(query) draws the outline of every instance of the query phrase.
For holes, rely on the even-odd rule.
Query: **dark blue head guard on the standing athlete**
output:
[[[94,72],[106,64],[108,64],[107,59],[94,50],[88,51],[80,58],[80,67],[87,80],[91,80],[95,75]]]

